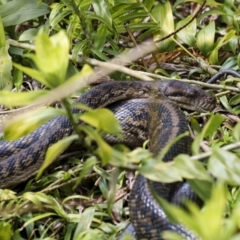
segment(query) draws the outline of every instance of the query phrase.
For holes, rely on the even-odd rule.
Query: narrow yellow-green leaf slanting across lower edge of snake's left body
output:
[[[78,139],[78,135],[71,135],[69,137],[63,138],[57,143],[53,144],[48,148],[44,163],[41,168],[38,170],[37,179],[41,176],[42,172],[53,163],[53,161],[60,156],[69,146],[70,144]]]

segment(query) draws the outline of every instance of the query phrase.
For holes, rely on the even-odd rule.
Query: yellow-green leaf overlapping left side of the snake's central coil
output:
[[[99,108],[88,111],[80,116],[80,119],[107,133],[118,134],[121,132],[121,126],[114,114],[106,109]]]

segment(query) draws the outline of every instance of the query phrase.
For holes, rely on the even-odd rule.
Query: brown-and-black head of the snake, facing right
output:
[[[160,81],[164,95],[178,107],[198,112],[212,111],[216,106],[214,96],[198,86],[178,80]]]

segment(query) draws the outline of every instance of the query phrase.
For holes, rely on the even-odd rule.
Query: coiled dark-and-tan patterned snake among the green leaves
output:
[[[124,144],[141,146],[149,139],[149,150],[157,154],[178,135],[188,131],[188,121],[178,107],[206,112],[216,104],[214,96],[200,87],[178,80],[110,81],[91,88],[75,103],[90,108],[109,107],[123,129]],[[81,110],[72,109],[73,113]],[[10,188],[34,176],[44,162],[47,149],[73,133],[67,117],[61,115],[16,141],[0,143],[0,188]],[[108,141],[118,141],[106,136]],[[186,136],[174,143],[163,161],[172,161],[179,153],[190,153],[191,139]],[[186,239],[197,237],[184,226],[172,224],[156,201],[153,189],[166,200],[178,202],[189,192],[185,183],[163,184],[138,175],[130,193],[131,233],[136,239],[162,239],[165,230],[172,230]],[[176,200],[174,200],[176,199]]]

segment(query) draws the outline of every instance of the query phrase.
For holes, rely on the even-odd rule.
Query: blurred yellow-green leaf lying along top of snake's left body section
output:
[[[18,115],[5,126],[4,137],[8,140],[19,139],[60,114],[64,114],[64,111],[61,109],[38,108]]]

